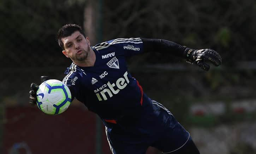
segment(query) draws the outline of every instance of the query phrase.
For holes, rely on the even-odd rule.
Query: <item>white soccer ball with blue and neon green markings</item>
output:
[[[71,103],[69,88],[55,79],[50,79],[40,84],[36,97],[37,107],[46,114],[61,114]]]

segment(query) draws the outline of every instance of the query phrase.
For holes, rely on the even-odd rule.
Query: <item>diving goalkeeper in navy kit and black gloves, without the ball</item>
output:
[[[82,28],[67,24],[57,34],[62,53],[73,62],[65,71],[72,95],[98,114],[106,126],[113,154],[144,154],[149,146],[163,153],[199,154],[191,135],[171,111],[151,100],[127,70],[126,58],[146,52],[161,52],[185,58],[208,71],[222,63],[212,49],[195,50],[172,41],[119,38],[90,46]],[[30,103],[36,104],[38,85],[32,83]]]

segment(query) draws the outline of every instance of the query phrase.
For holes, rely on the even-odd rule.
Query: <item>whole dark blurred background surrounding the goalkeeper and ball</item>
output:
[[[57,116],[28,104],[31,82],[65,76],[71,60],[55,35],[66,23],[83,26],[92,45],[144,37],[218,51],[223,64],[208,72],[171,54],[142,54],[128,64],[144,92],[190,131],[201,154],[256,153],[255,0],[1,0],[0,19],[2,153],[111,153],[101,121],[82,103]]]

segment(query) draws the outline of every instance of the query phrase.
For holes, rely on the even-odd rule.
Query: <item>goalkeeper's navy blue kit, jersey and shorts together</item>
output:
[[[94,66],[72,63],[65,72],[63,82],[72,89],[72,98],[102,118],[113,154],[141,154],[149,146],[171,153],[191,140],[172,113],[147,97],[127,70],[126,58],[146,47],[140,38],[103,42],[92,47]]]

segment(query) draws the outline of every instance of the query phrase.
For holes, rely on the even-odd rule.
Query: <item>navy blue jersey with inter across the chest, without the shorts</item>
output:
[[[126,58],[143,52],[142,40],[114,39],[92,49],[94,66],[72,63],[65,72],[63,82],[72,86],[72,96],[105,120],[136,113],[142,106],[143,91],[127,70]]]

